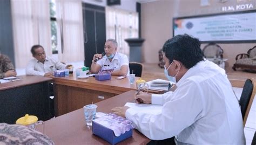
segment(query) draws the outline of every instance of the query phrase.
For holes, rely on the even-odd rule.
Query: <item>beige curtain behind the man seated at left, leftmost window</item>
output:
[[[11,0],[11,13],[16,67],[26,67],[32,45],[40,44],[51,54],[49,1]]]

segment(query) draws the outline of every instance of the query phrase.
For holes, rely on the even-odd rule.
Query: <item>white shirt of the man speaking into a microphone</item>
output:
[[[129,60],[125,54],[116,52],[111,62],[106,56],[104,56],[102,59],[97,61],[97,64],[100,65],[100,67],[104,67],[104,66],[114,67],[114,71],[116,71],[116,70],[121,70],[121,67],[123,65],[129,66]],[[129,74],[130,74],[130,71],[128,70],[126,75],[129,75]]]

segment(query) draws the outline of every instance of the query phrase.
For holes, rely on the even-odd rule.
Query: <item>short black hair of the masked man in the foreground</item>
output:
[[[200,49],[200,41],[188,34],[177,35],[167,40],[163,46],[163,52],[172,61],[180,61],[187,69],[204,60],[203,51]]]

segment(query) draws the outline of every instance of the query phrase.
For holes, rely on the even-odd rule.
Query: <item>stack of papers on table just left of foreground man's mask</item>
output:
[[[162,79],[156,79],[156,80],[146,82],[146,84],[149,85],[149,89],[157,90],[157,91],[168,91],[170,86],[173,83],[174,82],[162,80]]]

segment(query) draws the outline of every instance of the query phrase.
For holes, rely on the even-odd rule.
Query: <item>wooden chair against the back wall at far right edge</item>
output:
[[[256,72],[256,46],[249,49],[247,53],[240,53],[235,57],[235,64],[233,70],[237,71],[237,68],[249,72]]]

